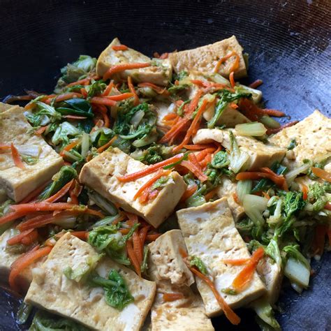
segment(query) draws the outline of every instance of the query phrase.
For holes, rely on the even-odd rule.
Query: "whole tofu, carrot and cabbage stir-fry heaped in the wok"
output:
[[[235,36],[115,38],[0,103],[0,270],[29,330],[262,330],[331,245],[331,120],[265,108]],[[31,316],[32,318],[32,316]]]

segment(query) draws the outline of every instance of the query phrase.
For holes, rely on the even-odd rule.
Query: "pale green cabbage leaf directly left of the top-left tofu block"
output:
[[[62,76],[57,81],[54,92],[58,94],[63,92],[67,84],[85,78],[87,73],[94,70],[95,66],[96,59],[88,55],[80,55],[73,64],[67,64],[64,68],[61,68]]]

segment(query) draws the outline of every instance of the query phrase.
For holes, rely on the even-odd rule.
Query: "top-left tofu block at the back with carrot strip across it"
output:
[[[115,38],[110,45],[103,50],[96,63],[96,73],[103,76],[112,66],[119,64],[150,63],[147,68],[126,70],[113,75],[115,81],[126,80],[131,76],[135,82],[152,82],[157,85],[167,86],[172,76],[172,66],[168,59],[150,59],[146,55],[128,48],[128,50],[113,50],[112,46],[121,45]]]

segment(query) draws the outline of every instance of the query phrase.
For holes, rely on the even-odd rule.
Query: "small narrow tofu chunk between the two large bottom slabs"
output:
[[[170,230],[149,244],[159,279],[168,279],[171,284],[178,286],[190,286],[194,283],[194,277],[179,256],[179,249],[186,251],[181,230]]]

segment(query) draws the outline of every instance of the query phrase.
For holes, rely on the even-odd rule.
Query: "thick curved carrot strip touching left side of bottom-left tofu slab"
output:
[[[32,263],[34,263],[39,258],[43,256],[47,256],[50,251],[52,251],[52,247],[42,247],[41,249],[31,250],[24,255],[20,256],[15,263],[13,263],[10,274],[9,274],[9,285],[13,290],[19,292],[20,288],[17,285],[17,276],[19,276],[24,269],[29,267]]]

